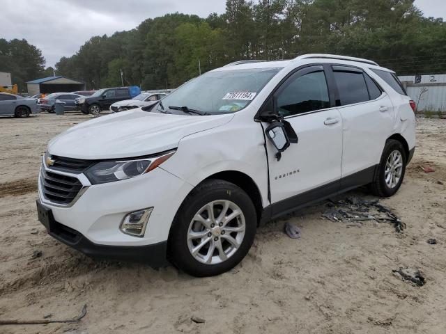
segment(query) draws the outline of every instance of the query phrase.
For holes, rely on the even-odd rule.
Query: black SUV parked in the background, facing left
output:
[[[102,110],[108,110],[115,102],[130,100],[139,94],[141,94],[141,89],[138,86],[103,88],[96,90],[89,97],[77,99],[76,105],[82,113],[98,115]]]

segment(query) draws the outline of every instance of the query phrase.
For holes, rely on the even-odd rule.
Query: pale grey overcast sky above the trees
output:
[[[130,30],[167,13],[224,13],[225,0],[0,0],[0,38],[25,38],[47,66],[71,56],[93,35]],[[446,17],[446,0],[415,0],[425,16]]]

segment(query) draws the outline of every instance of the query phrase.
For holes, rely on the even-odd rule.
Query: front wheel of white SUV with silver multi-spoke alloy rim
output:
[[[169,258],[192,276],[219,275],[247,255],[256,228],[256,209],[245,191],[231,182],[207,180],[178,209]]]

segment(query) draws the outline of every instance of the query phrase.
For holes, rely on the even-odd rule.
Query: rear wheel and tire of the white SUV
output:
[[[371,192],[380,197],[390,197],[397,193],[406,173],[406,164],[406,151],[401,142],[388,140],[374,182],[370,185]]]

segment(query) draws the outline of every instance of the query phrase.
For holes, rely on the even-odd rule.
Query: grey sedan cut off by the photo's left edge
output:
[[[38,113],[36,100],[20,95],[0,93],[0,116],[29,117]]]

